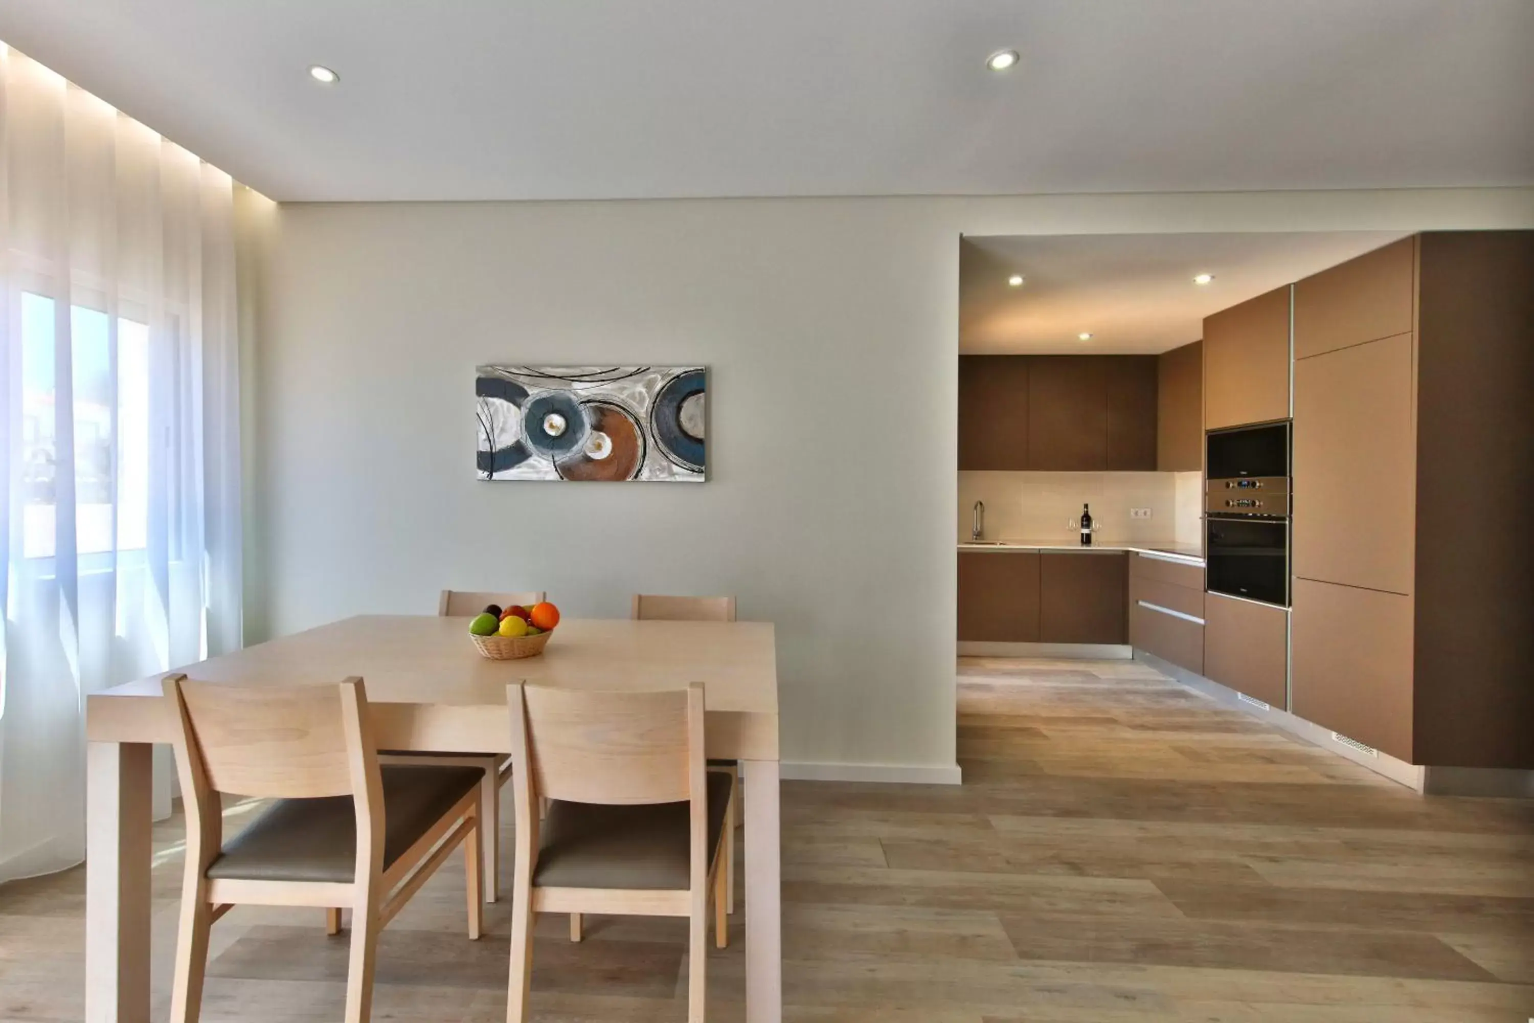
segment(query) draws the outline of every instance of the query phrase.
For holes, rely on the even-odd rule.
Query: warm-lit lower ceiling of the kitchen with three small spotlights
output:
[[[959,351],[1160,353],[1198,340],[1203,319],[1401,238],[1039,235],[966,238],[959,252]],[[1020,288],[1006,279],[1020,273]],[[1207,285],[1193,275],[1212,273]],[[1091,333],[1089,342],[1077,339]]]

